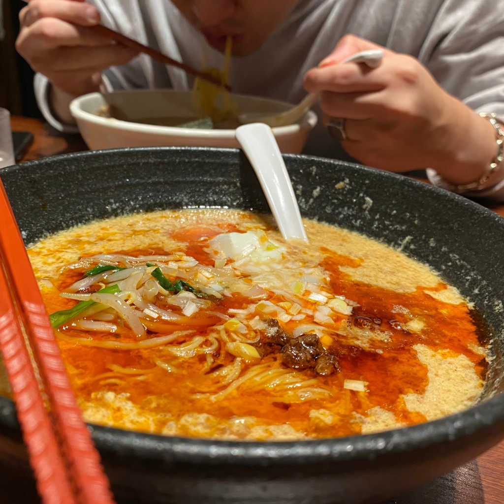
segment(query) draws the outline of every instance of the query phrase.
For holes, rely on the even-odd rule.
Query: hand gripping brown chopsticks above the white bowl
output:
[[[70,95],[98,91],[103,70],[137,54],[93,33],[90,27],[100,23],[100,13],[84,0],[30,0],[19,19],[17,51]]]

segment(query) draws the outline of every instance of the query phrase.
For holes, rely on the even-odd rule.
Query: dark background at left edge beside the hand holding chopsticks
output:
[[[3,9],[5,38],[0,40],[0,106],[13,115],[42,117],[33,93],[33,70],[16,52],[19,11],[22,0],[0,0]]]

